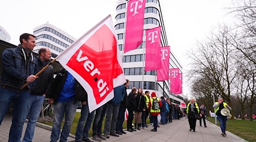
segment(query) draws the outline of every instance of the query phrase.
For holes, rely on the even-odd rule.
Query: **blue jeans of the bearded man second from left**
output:
[[[23,142],[32,141],[36,126],[36,121],[39,118],[40,112],[42,110],[42,105],[44,102],[43,95],[33,95],[30,94],[27,102],[27,111],[25,114],[28,114],[28,123],[25,135],[23,137]],[[24,118],[26,119],[26,117]]]

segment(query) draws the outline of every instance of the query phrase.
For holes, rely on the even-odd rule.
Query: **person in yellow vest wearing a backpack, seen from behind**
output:
[[[156,132],[158,128],[158,115],[160,114],[160,107],[162,107],[162,102],[156,94],[152,92],[150,102],[148,102],[148,111],[150,111],[151,119],[154,124],[154,129],[151,131]]]

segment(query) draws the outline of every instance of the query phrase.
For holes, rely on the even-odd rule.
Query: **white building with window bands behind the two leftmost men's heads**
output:
[[[40,48],[48,47],[51,49],[52,57],[59,55],[76,40],[75,37],[48,22],[34,28],[34,35],[36,36],[34,52],[38,53]]]

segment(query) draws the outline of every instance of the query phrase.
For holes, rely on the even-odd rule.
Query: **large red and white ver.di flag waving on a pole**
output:
[[[113,88],[126,82],[110,15],[57,59],[87,91],[90,112],[110,101],[114,97]]]

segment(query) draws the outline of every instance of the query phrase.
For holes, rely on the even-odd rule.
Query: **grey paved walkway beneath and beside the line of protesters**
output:
[[[6,116],[0,126],[0,141],[7,141],[9,128],[11,124],[11,116]],[[24,125],[26,128],[26,124]],[[199,142],[199,141],[245,141],[234,135],[233,133],[226,132],[228,136],[221,136],[221,131],[218,126],[212,123],[207,123],[207,128],[200,127],[199,121],[197,121],[196,132],[189,131],[188,119],[182,118],[181,120],[174,120],[173,123],[166,125],[160,125],[158,132],[151,132],[152,126],[145,128],[144,130],[137,132],[127,132],[119,137],[110,136],[110,139],[102,140],[103,142],[110,141],[146,141],[146,142],[162,142],[162,141],[188,141],[188,142]],[[24,134],[23,134],[24,135]],[[35,136],[33,141],[49,141],[51,131],[45,130],[44,128],[36,127]],[[75,141],[69,137],[68,141]]]

